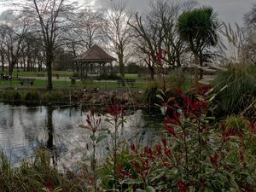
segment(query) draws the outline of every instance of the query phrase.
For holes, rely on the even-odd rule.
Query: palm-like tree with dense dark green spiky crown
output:
[[[178,17],[177,32],[189,43],[189,49],[195,56],[195,66],[202,66],[203,51],[217,44],[220,26],[217,14],[210,7],[186,11]],[[198,67],[195,67],[195,85],[197,82]]]

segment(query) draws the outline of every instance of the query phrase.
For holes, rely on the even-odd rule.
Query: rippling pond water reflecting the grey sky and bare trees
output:
[[[80,108],[27,108],[0,103],[1,148],[12,164],[32,159],[38,148],[44,147],[54,151],[55,162],[72,165],[90,155],[90,131],[79,128],[86,122],[86,113],[88,110]],[[97,145],[99,158],[108,154],[106,148],[113,143],[113,127],[104,120],[106,113],[101,118],[99,134],[108,138]],[[121,141],[152,145],[160,138],[162,122],[159,111],[126,110],[125,123],[119,126],[119,145]]]

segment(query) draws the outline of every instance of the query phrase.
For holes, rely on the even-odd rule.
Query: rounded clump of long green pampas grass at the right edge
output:
[[[214,93],[217,94],[214,102],[218,104],[218,113],[241,113],[255,96],[255,67],[248,64],[231,64],[227,71],[218,73],[213,84]]]

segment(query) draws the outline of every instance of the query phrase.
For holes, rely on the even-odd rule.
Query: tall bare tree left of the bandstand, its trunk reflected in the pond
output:
[[[42,36],[45,65],[47,67],[47,89],[52,90],[52,65],[55,61],[55,49],[67,44],[67,32],[73,28],[76,2],[67,0],[26,0],[19,3],[21,15],[30,18],[31,31]]]

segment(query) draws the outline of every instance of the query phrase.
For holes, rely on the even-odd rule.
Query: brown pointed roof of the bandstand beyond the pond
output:
[[[81,62],[112,62],[116,61],[113,56],[108,55],[101,47],[98,45],[93,45],[84,54],[77,56],[74,61]]]

